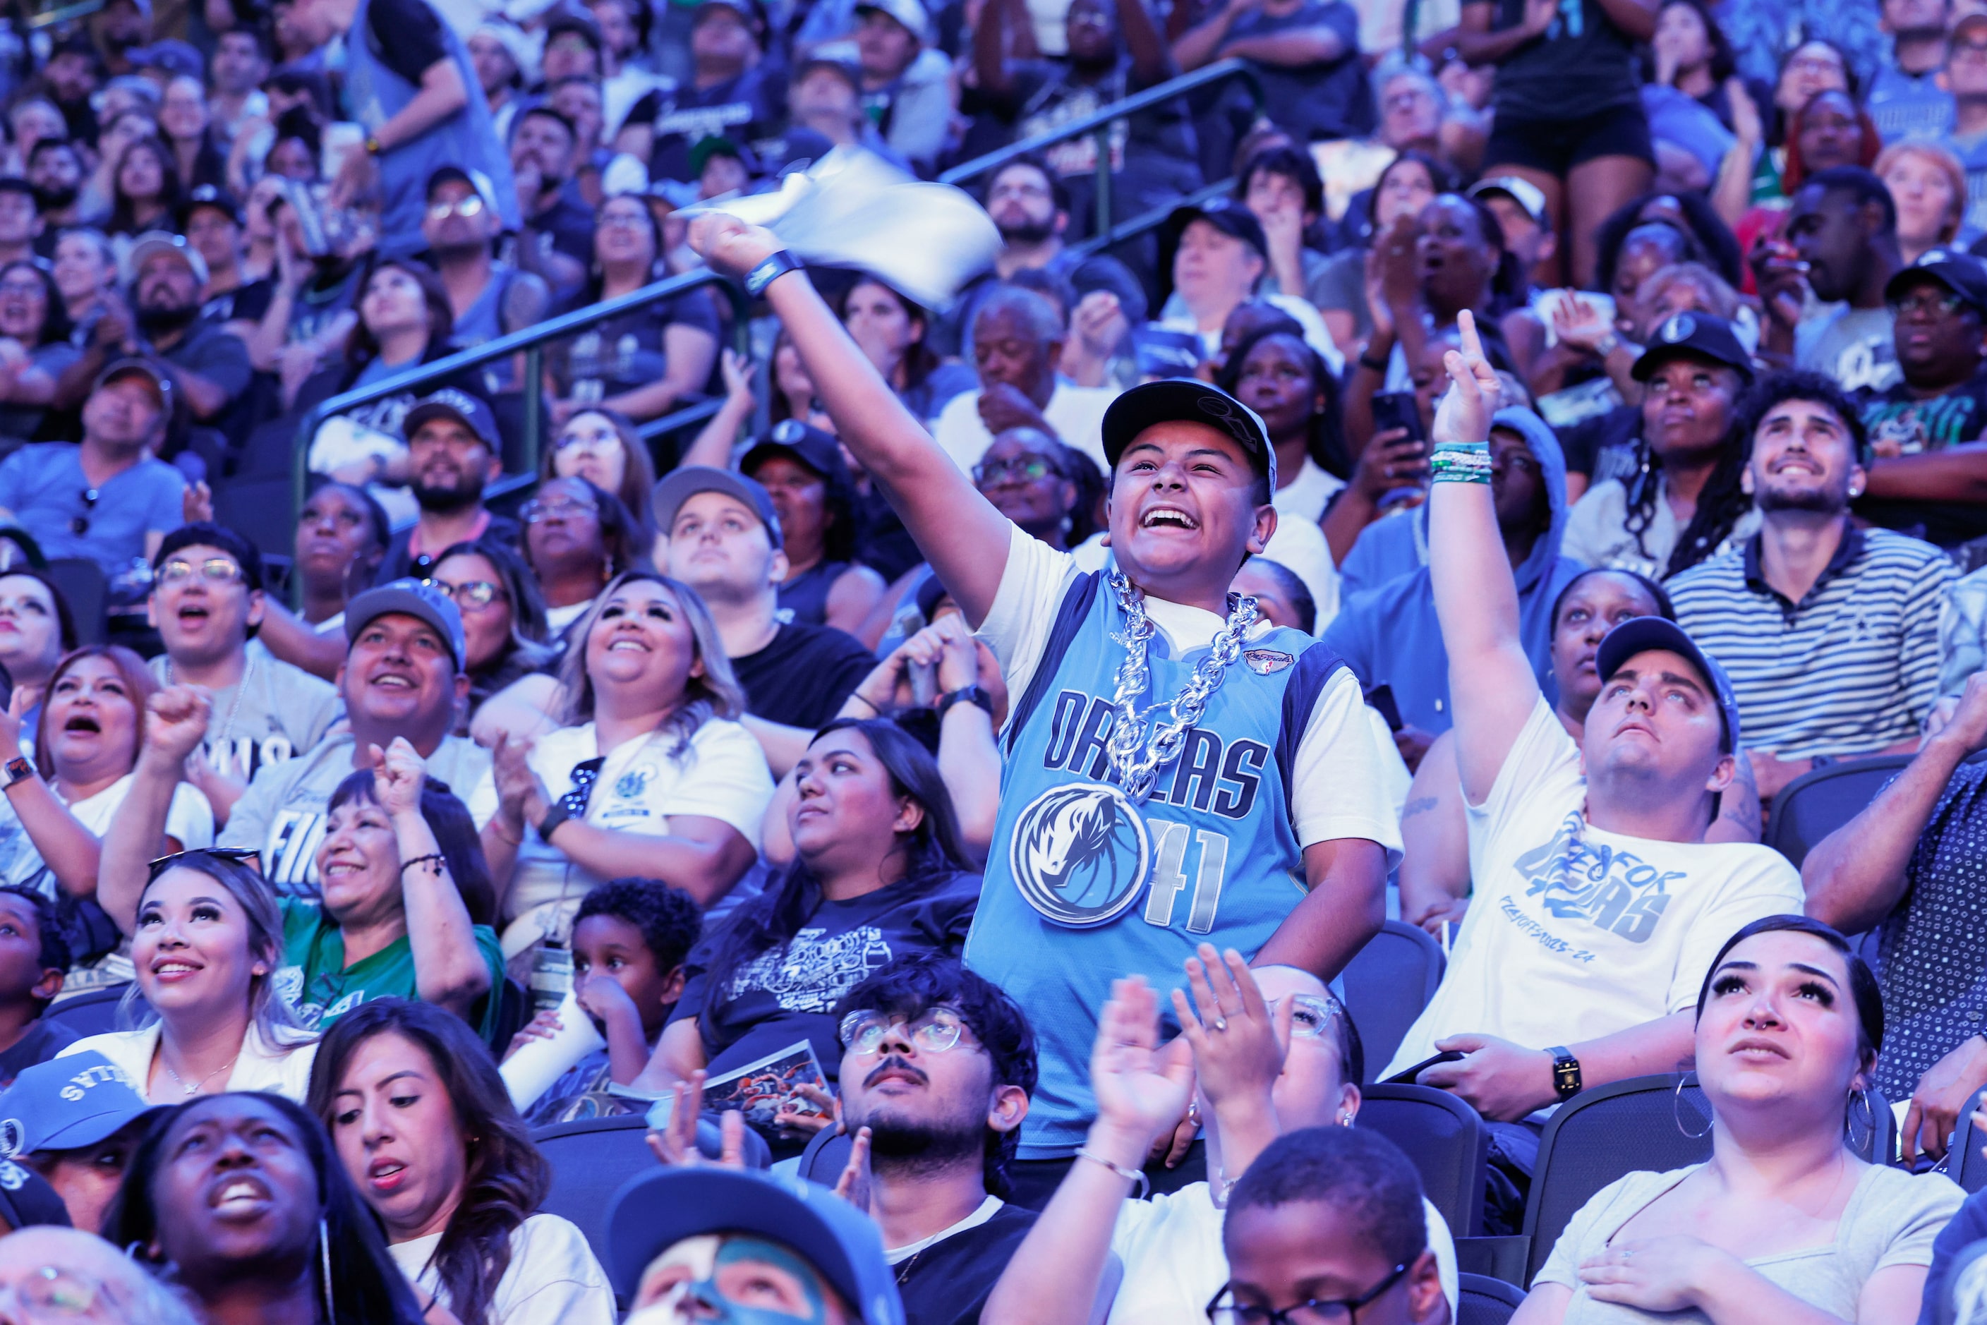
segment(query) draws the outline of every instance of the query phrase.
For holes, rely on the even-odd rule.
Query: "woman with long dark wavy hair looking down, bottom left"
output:
[[[614,1289],[586,1238],[533,1214],[550,1166],[461,1019],[403,999],[346,1013],[324,1037],[310,1110],[425,1311],[439,1303],[463,1325],[612,1325]]]

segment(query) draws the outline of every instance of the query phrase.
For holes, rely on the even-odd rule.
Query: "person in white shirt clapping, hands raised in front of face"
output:
[[[1353,1126],[1365,1051],[1321,979],[1292,965],[1252,971],[1242,954],[1224,957],[1210,944],[1186,969],[1192,1005],[1176,991],[1172,1009],[1192,1069],[1186,1055],[1158,1051],[1158,999],[1145,981],[1119,981],[1091,1061],[1097,1120],[1077,1152],[1091,1162],[1071,1166],[1043,1206],[980,1317],[986,1325],[1085,1325],[1101,1291],[1113,1325],[1200,1325],[1230,1281],[1222,1218],[1242,1174],[1280,1134]],[[1190,1095],[1208,1138],[1206,1182],[1127,1200],[1143,1192],[1133,1174],[1146,1148],[1172,1130]],[[1433,1257],[1405,1275],[1409,1295],[1429,1307],[1447,1297],[1454,1311],[1454,1238],[1427,1198],[1419,1206]],[[1111,1255],[1123,1265],[1115,1285],[1105,1273]]]

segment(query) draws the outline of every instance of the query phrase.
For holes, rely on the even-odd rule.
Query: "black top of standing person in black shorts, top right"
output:
[[[1492,32],[1524,22],[1526,0],[1470,2],[1496,4]],[[1526,42],[1498,64],[1492,107],[1502,119],[1566,123],[1619,105],[1639,105],[1639,81],[1635,48],[1607,18],[1602,2],[1560,0],[1560,16],[1546,28],[1546,36]]]

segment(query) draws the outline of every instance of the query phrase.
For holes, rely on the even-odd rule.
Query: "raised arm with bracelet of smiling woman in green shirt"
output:
[[[421,785],[427,767],[407,737],[374,751],[374,795],[393,822],[399,846],[399,896],[407,908],[407,944],[413,948],[413,989],[423,1003],[469,1017],[489,993],[491,971],[477,950],[475,924],[463,894],[449,876],[435,830],[421,818]]]

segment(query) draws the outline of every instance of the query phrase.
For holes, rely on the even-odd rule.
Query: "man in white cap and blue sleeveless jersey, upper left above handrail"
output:
[[[538,322],[552,298],[544,280],[491,256],[501,228],[491,181],[481,171],[445,165],[427,179],[421,236],[455,312],[449,344],[461,350]],[[493,395],[519,387],[515,362],[485,364],[481,375]]]

